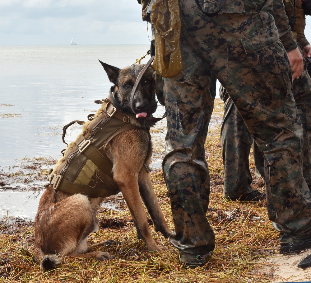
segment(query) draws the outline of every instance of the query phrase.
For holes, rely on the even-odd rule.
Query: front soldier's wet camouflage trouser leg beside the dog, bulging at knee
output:
[[[215,247],[208,223],[210,176],[204,143],[216,95],[216,77],[182,45],[183,72],[164,78],[167,134],[163,171],[175,231],[169,237],[182,262],[205,263]]]

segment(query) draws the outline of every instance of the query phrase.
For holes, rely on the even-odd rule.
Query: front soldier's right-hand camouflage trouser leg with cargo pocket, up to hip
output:
[[[227,0],[215,17],[183,0],[183,38],[216,74],[267,164],[268,216],[288,241],[311,238],[311,194],[302,174],[302,126],[272,0]],[[268,179],[268,180],[267,180]]]

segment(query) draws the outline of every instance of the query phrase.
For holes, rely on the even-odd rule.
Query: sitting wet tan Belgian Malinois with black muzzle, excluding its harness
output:
[[[145,164],[150,164],[152,147],[149,130],[154,123],[141,117],[152,116],[157,108],[153,69],[149,67],[146,70],[130,101],[133,85],[144,65],[119,69],[101,61],[100,63],[109,81],[114,84],[114,98],[126,109],[129,123],[135,126],[135,129],[114,136],[105,148],[107,158],[113,163],[114,182],[128,205],[138,238],[145,241],[149,251],[166,250],[167,247],[157,245],[152,238],[142,205],[143,200],[156,231],[168,237],[171,231],[153,191],[150,174],[145,168]],[[63,255],[96,258],[100,261],[112,258],[108,252],[91,252],[93,247],[109,244],[112,240],[89,247],[86,244],[89,233],[99,229],[96,213],[102,200],[103,197],[88,197],[61,190],[55,194],[51,184],[46,188],[35,217],[34,250],[34,257],[41,261],[44,270],[59,265]]]

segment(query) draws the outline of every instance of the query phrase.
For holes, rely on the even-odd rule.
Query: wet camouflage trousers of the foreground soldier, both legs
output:
[[[203,6],[203,0],[202,0]],[[255,9],[254,6],[257,8]],[[180,0],[183,71],[164,78],[167,135],[163,170],[182,262],[204,263],[215,246],[206,218],[209,172],[204,141],[215,86],[227,89],[265,156],[269,218],[287,241],[311,237],[311,194],[302,175],[302,126],[287,55],[271,15],[272,0],[227,0],[215,17]],[[256,10],[256,11],[255,11]]]

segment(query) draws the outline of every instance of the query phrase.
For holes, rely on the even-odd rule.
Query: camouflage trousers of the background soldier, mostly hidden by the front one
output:
[[[303,126],[303,176],[310,188],[311,78],[306,69],[298,79],[294,80],[292,92]],[[257,144],[253,143],[252,135],[225,89],[220,91],[220,98],[225,103],[220,133],[225,168],[225,197],[234,199],[253,191],[250,186],[253,179],[248,160],[252,144],[256,171],[263,177],[264,158]]]

